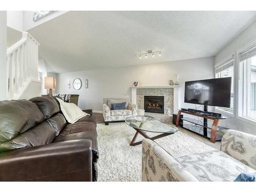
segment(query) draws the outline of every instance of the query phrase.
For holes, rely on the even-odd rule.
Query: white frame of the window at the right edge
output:
[[[240,59],[239,59],[239,55],[240,53],[242,53],[243,51],[249,49],[250,47],[252,47],[253,45],[256,45],[256,38],[252,39],[250,42],[248,42],[248,44],[246,44],[245,46],[241,47],[240,49],[238,49],[236,51],[236,57],[237,57],[237,65],[238,65],[238,93],[237,93],[237,101],[238,101],[238,108],[237,108],[237,118],[243,121],[246,121],[250,124],[255,125],[256,120],[246,117],[244,116],[244,114],[246,113],[246,108],[244,108],[244,103],[246,102],[246,100],[248,101],[248,99],[245,98],[245,93],[248,93],[246,90],[246,85],[247,82],[244,82],[244,73],[248,73],[247,70],[245,70],[246,66],[248,65],[248,63],[246,63],[246,65],[240,65]],[[247,60],[245,60],[247,61]],[[243,62],[245,62],[243,61]],[[246,68],[247,69],[247,68]],[[248,76],[246,81],[248,81]],[[246,96],[248,98],[248,95]],[[246,103],[248,106],[248,103]]]

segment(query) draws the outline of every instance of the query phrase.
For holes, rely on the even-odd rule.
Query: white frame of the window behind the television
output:
[[[236,104],[235,104],[235,90],[236,90],[236,86],[235,86],[235,58],[234,58],[234,53],[230,54],[228,57],[226,57],[225,59],[221,60],[220,62],[216,63],[216,65],[214,66],[214,77],[216,78],[216,69],[220,68],[222,66],[227,65],[229,62],[233,61],[233,110],[228,110],[227,108],[223,108],[220,106],[216,106],[215,107],[215,111],[219,112],[219,113],[224,113],[228,116],[234,117],[235,114],[235,110],[236,110]]]

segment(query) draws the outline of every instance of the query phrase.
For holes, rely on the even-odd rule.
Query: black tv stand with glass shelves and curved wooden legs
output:
[[[207,112],[207,105],[204,105],[204,111],[201,111],[201,112],[202,113],[200,113],[199,110],[198,110],[198,112],[191,112],[187,109],[181,109],[177,115],[176,126],[179,126],[179,121],[181,119],[183,121],[193,123],[193,125],[190,125],[190,126],[187,126],[187,124],[183,123],[183,126],[182,126],[183,128],[188,129],[193,132],[196,132],[200,135],[203,135],[204,137],[209,138],[210,141],[213,143],[215,143],[218,140],[221,140],[222,135],[217,134],[217,128],[219,128],[220,130],[226,129],[225,127],[218,126],[219,121],[221,119],[226,119],[226,117],[212,116],[211,114],[207,115],[208,113],[211,113],[211,112]],[[197,117],[202,117],[203,121],[197,120],[195,118],[189,118],[189,117],[180,118],[181,113],[185,113],[185,114],[193,115],[193,116],[197,116]],[[213,122],[208,123],[208,119],[213,120]],[[203,127],[203,129],[202,129],[202,127]],[[196,129],[198,131],[195,131]]]

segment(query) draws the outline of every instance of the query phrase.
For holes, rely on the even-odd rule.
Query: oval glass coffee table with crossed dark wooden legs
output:
[[[159,139],[161,137],[165,137],[167,135],[172,135],[178,131],[176,126],[168,125],[165,123],[161,123],[160,121],[155,120],[151,116],[132,116],[125,119],[125,123],[133,129],[136,130],[136,133],[133,137],[131,146],[136,146],[142,143],[142,141],[135,142],[138,134],[142,135],[147,139]],[[149,137],[146,132],[160,133],[157,136]]]

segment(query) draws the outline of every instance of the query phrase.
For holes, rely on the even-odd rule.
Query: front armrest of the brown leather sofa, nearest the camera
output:
[[[92,181],[92,141],[72,140],[0,154],[1,181]]]

